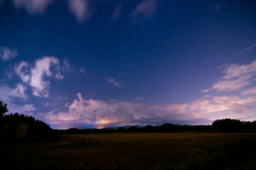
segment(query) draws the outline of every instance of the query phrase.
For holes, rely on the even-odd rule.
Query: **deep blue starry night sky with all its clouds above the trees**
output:
[[[54,129],[256,120],[256,3],[0,0],[0,98]]]

